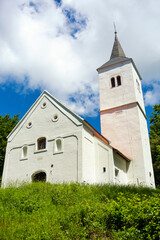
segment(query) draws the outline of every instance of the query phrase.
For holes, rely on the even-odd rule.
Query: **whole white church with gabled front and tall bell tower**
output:
[[[99,75],[101,131],[44,91],[8,136],[2,187],[32,181],[155,187],[141,76],[117,38]]]

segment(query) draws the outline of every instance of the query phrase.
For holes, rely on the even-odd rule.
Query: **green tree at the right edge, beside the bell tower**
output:
[[[150,143],[155,182],[160,186],[160,104],[153,106],[150,117]]]

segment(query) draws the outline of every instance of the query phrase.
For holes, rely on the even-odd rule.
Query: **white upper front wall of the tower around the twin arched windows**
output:
[[[132,63],[121,63],[99,71],[100,110],[135,102]],[[121,76],[122,85],[111,88],[111,78]]]

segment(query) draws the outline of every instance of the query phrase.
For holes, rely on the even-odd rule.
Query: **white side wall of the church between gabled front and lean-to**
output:
[[[82,150],[83,181],[88,183],[113,183],[113,149],[95,137],[94,133],[85,126],[83,129]]]

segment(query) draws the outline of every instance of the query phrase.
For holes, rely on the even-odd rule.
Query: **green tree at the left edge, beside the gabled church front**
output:
[[[2,176],[3,164],[7,145],[7,136],[18,123],[19,114],[10,117],[9,114],[4,117],[0,115],[0,178]]]

